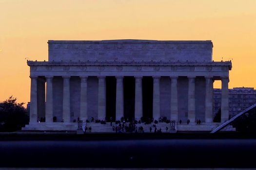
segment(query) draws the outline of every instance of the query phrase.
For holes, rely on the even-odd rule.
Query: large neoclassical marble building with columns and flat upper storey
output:
[[[78,117],[83,122],[167,117],[182,120],[178,130],[193,129],[200,119],[201,127],[212,128],[217,80],[222,84],[221,121],[229,118],[232,63],[213,61],[210,40],[49,40],[48,47],[48,61],[27,61],[30,122],[23,129],[77,128],[73,120]]]

